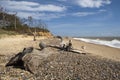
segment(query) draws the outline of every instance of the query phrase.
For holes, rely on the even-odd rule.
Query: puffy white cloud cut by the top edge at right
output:
[[[76,0],[76,4],[81,7],[99,8],[106,4],[111,4],[110,0]]]

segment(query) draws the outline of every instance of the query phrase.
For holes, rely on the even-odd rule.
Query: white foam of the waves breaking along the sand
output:
[[[84,42],[94,43],[94,44],[100,44],[100,45],[120,48],[120,41],[117,39],[114,39],[112,41],[105,41],[105,40],[100,40],[100,39],[85,39],[85,38],[74,38],[74,39],[81,40]]]

